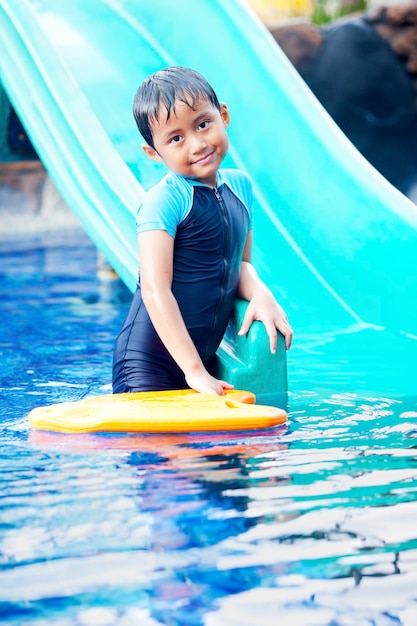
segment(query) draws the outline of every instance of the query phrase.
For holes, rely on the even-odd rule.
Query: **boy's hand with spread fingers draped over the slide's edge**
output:
[[[278,304],[269,289],[264,287],[256,289],[250,300],[238,335],[246,335],[252,322],[255,320],[264,324],[273,354],[275,354],[277,350],[277,330],[279,330],[285,338],[286,349],[290,349],[293,330],[288,318],[284,309]]]

